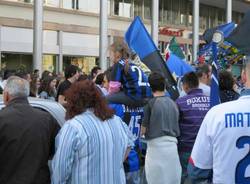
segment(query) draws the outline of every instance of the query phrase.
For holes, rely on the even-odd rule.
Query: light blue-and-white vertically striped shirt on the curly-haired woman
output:
[[[67,121],[56,138],[53,184],[120,184],[123,160],[133,138],[114,116],[105,122],[86,111]]]

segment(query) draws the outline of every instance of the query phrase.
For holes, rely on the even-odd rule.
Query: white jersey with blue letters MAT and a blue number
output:
[[[250,96],[207,113],[191,158],[196,167],[213,169],[213,183],[250,183],[245,178],[250,177]]]

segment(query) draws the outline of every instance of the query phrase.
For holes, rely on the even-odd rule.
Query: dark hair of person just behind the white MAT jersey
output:
[[[231,72],[222,70],[219,73],[219,88],[220,90],[232,90],[234,86],[234,78]]]

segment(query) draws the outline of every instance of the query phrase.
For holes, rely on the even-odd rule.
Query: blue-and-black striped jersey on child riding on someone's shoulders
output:
[[[129,68],[126,72],[125,65],[124,60],[120,60],[113,65],[111,81],[120,82],[125,94],[134,100],[151,97],[148,78],[144,72],[133,63],[129,63]]]

